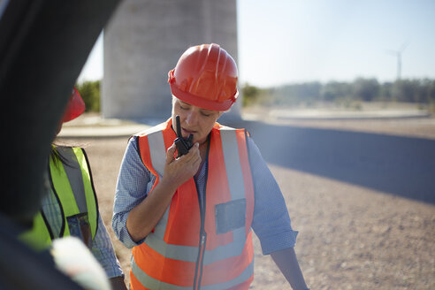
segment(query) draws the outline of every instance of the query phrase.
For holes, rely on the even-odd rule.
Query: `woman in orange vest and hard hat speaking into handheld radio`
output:
[[[118,176],[112,227],[133,248],[131,289],[248,289],[252,230],[307,289],[276,180],[244,129],[217,123],[238,96],[233,58],[191,47],[168,82],[172,118],[130,139]]]

